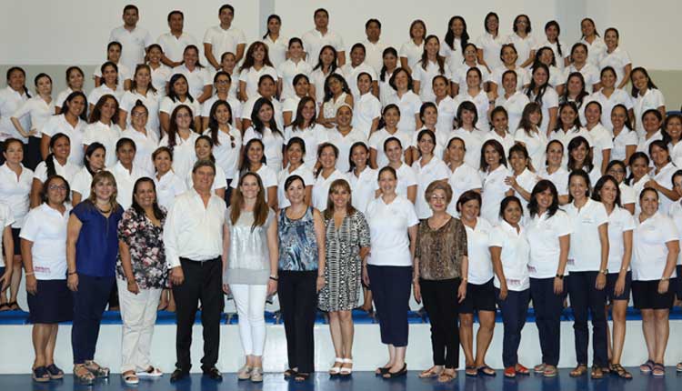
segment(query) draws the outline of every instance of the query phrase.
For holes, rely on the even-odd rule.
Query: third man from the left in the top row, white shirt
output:
[[[235,7],[232,5],[222,5],[218,10],[220,25],[208,27],[204,35],[204,54],[206,60],[214,68],[220,68],[220,58],[223,53],[231,52],[236,55],[238,64],[244,56],[246,48],[246,35],[244,32],[232,25],[235,19]]]

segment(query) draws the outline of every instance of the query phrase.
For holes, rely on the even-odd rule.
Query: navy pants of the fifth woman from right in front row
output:
[[[524,291],[507,291],[506,298],[500,300],[499,289],[495,289],[497,306],[502,312],[502,322],[505,325],[502,340],[502,363],[507,368],[518,364],[518,345],[521,343],[521,330],[526,325],[530,289]]]

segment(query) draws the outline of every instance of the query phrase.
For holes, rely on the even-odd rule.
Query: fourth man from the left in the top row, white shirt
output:
[[[325,45],[332,45],[336,49],[338,67],[346,64],[346,51],[341,35],[329,30],[329,13],[325,8],[317,8],[315,14],[315,28],[301,36],[303,49],[306,51],[306,61],[310,65],[317,65],[317,57]]]

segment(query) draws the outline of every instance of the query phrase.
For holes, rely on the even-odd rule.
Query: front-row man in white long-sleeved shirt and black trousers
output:
[[[199,300],[204,327],[201,368],[206,376],[216,381],[223,379],[216,362],[220,343],[220,313],[223,311],[226,205],[222,198],[211,191],[215,177],[216,165],[213,162],[196,162],[192,169],[193,188],[176,197],[165,219],[165,256],[176,298],[177,316],[177,361],[171,383],[188,376],[192,367],[192,326]]]

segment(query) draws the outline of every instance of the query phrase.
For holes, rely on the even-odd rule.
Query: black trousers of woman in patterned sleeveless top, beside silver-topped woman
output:
[[[315,371],[313,328],[317,306],[317,271],[279,271],[279,306],[285,323],[286,355],[290,368],[298,372]]]

